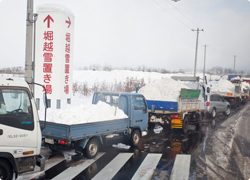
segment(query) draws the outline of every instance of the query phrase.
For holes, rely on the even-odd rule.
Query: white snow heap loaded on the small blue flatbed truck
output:
[[[127,117],[128,116],[124,114],[121,109],[110,106],[109,104],[101,101],[97,104],[89,104],[87,106],[83,104],[70,106],[64,110],[48,109],[47,112],[48,122],[68,125],[122,119]]]

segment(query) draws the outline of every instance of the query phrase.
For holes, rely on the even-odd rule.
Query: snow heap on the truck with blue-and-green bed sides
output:
[[[171,78],[155,80],[139,89],[147,100],[178,101],[181,88],[190,89],[181,81]]]

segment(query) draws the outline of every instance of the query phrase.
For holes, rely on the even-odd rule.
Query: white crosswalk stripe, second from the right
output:
[[[143,180],[143,179],[151,179],[150,177],[153,175],[154,170],[161,159],[162,154],[148,154],[141,166],[135,172],[132,180]]]

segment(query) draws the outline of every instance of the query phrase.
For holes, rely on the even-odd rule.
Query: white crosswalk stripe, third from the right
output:
[[[134,153],[120,153],[108,163],[92,180],[112,179]]]

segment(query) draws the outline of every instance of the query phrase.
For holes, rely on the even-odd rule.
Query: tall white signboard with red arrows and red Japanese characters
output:
[[[46,87],[49,99],[72,96],[74,15],[59,5],[37,8],[35,82]],[[41,88],[35,89],[42,98]]]

